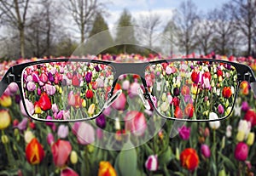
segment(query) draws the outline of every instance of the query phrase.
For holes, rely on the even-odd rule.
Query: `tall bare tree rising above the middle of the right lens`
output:
[[[191,0],[180,4],[180,12],[173,16],[175,26],[177,26],[177,45],[185,54],[189,54],[195,49],[195,25],[198,23],[197,7]]]

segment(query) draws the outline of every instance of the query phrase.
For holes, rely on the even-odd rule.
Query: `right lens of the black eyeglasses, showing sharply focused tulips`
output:
[[[211,120],[230,116],[236,100],[233,65],[209,61],[171,61],[148,65],[145,79],[162,116]]]

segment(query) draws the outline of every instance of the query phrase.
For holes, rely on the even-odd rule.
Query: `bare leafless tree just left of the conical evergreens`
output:
[[[96,13],[102,11],[102,3],[99,3],[98,0],[69,0],[69,3],[70,5],[66,8],[79,26],[80,43],[83,43],[85,34],[90,31]]]

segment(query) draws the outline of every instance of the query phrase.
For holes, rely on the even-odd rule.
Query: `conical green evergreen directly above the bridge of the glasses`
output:
[[[118,26],[116,33],[115,42],[119,43],[119,46],[116,46],[119,53],[134,53],[136,52],[135,44],[137,43],[134,33],[133,24],[131,22],[131,14],[127,9],[124,9],[118,20]],[[127,27],[127,28],[123,28]],[[129,46],[127,46],[127,43]],[[133,45],[133,46],[131,46]]]

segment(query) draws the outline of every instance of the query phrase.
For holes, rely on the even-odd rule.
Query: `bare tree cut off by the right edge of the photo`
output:
[[[234,0],[229,8],[236,20],[236,27],[247,41],[247,55],[252,54],[253,37],[256,34],[256,2],[255,0]]]

